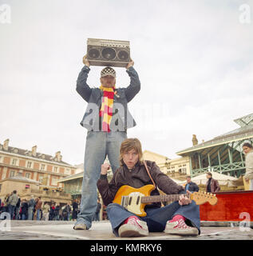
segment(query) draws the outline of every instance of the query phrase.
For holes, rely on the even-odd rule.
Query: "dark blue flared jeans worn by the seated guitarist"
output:
[[[135,215],[125,210],[123,206],[117,203],[111,203],[106,208],[113,228],[113,234],[119,236],[118,229],[122,222],[128,217]],[[179,214],[187,218],[185,221],[188,226],[195,226],[200,234],[200,206],[197,206],[194,201],[187,206],[180,206],[178,202],[172,202],[168,206],[146,208],[147,216],[139,217],[141,221],[147,222],[149,232],[162,232],[165,229],[166,222],[171,220],[173,216]]]

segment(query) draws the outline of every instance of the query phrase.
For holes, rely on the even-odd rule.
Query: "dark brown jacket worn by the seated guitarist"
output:
[[[176,184],[171,178],[160,171],[160,168],[156,165],[156,162],[145,161],[148,166],[148,170],[152,176],[152,179],[165,194],[181,194],[184,192],[184,187]],[[128,170],[127,166],[121,166],[113,175],[111,182],[108,182],[107,175],[101,175],[97,181],[97,188],[101,194],[105,206],[113,202],[113,199],[117,193],[117,190],[123,185],[132,186],[134,188],[140,188],[152,184],[151,179],[148,176],[147,170],[144,164],[138,162],[134,169]],[[158,190],[152,190],[151,195],[158,195]],[[160,203],[154,203],[149,206],[160,206]],[[148,207],[149,207],[148,206]]]

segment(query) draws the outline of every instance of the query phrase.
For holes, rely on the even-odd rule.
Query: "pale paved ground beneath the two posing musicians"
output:
[[[0,240],[122,240],[113,235],[108,221],[93,222],[90,230],[73,230],[73,222],[11,221],[9,227],[10,231],[4,231],[3,222],[0,222]],[[253,229],[243,229],[238,222],[202,222],[198,237],[180,237],[161,232],[150,233],[141,240],[252,240]]]

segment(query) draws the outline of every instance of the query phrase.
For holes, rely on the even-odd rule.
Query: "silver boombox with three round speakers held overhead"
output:
[[[88,38],[87,59],[91,66],[126,67],[130,62],[129,41]]]

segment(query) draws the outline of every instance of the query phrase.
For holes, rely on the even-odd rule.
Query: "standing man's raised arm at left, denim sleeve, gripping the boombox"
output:
[[[77,78],[77,93],[81,95],[81,97],[89,102],[89,97],[92,92],[92,89],[87,84],[87,78],[89,73],[89,61],[87,60],[87,55],[83,58],[83,63],[85,66],[81,69],[81,72]]]

